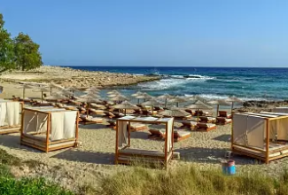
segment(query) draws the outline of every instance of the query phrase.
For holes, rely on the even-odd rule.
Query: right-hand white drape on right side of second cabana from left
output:
[[[77,117],[76,111],[64,113],[64,138],[68,139],[75,137],[76,117]]]

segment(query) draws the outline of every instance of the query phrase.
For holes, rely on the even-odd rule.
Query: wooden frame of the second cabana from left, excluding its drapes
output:
[[[37,112],[37,113],[44,113],[44,114],[48,115],[47,116],[48,119],[47,119],[47,132],[46,132],[45,142],[43,142],[42,140],[39,140],[37,138],[33,138],[31,136],[25,135],[24,129],[23,129],[25,110]],[[63,110],[63,111],[58,111],[58,112],[70,112],[70,111]],[[51,132],[51,111],[45,112],[45,111],[35,110],[35,109],[31,109],[31,108],[24,108],[23,113],[22,113],[22,120],[21,120],[20,144],[36,148],[36,149],[43,151],[43,152],[51,152],[51,151],[56,151],[56,150],[64,149],[64,148],[68,148],[68,147],[74,147],[78,141],[79,112],[77,112],[75,123],[76,123],[76,127],[75,127],[75,137],[74,138],[62,139],[62,140],[58,140],[58,141],[50,141],[49,136],[50,136],[50,132]]]

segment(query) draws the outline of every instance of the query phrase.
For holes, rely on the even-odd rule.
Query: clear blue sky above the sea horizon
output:
[[[57,66],[287,66],[287,0],[0,0]]]

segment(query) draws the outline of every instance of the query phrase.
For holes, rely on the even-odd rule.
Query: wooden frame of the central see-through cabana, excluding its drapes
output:
[[[116,121],[116,147],[115,147],[115,164],[133,164],[133,160],[136,160],[137,158],[149,161],[149,162],[159,162],[161,165],[164,165],[165,168],[167,168],[167,164],[169,163],[170,160],[173,158],[173,143],[174,143],[174,118],[168,119],[169,121],[172,120],[172,127],[171,127],[171,148],[168,152],[167,148],[167,136],[165,138],[165,149],[164,149],[164,155],[163,156],[155,156],[155,155],[150,155],[147,153],[140,153],[140,154],[131,154],[127,152],[123,152],[123,150],[130,148],[131,145],[131,127],[130,123],[131,122],[138,122],[138,123],[149,123],[149,124],[165,124],[166,125],[166,135],[167,135],[167,130],[168,130],[168,121],[164,121],[163,119],[157,119],[155,121],[137,121],[137,118],[133,119],[125,119],[125,117],[120,118]],[[119,148],[118,143],[118,134],[119,134],[119,121],[127,121],[128,122],[128,144],[124,146],[123,148]],[[149,152],[149,151],[145,151]]]

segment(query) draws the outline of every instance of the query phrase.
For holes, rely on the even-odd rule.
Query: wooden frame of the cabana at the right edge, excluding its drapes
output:
[[[237,113],[233,113],[233,119],[235,120],[235,114]],[[262,113],[243,113],[243,114],[248,114],[248,115],[258,115],[261,117],[265,117],[263,116]],[[265,114],[264,114],[265,115]],[[271,114],[273,115],[273,114]],[[273,150],[272,152],[269,151],[269,144],[270,144],[270,129],[269,129],[269,122],[270,121],[275,121],[275,120],[281,120],[281,119],[288,119],[288,116],[277,116],[277,117],[273,117],[273,118],[269,118],[266,117],[266,140],[265,140],[265,150],[261,150],[258,148],[254,148],[248,145],[243,145],[243,144],[237,144],[234,142],[234,131],[233,131],[233,125],[231,125],[231,150],[232,152],[241,154],[241,155],[245,155],[245,156],[249,156],[258,160],[262,160],[264,161],[266,164],[269,164],[270,161],[272,160],[277,160],[277,159],[281,159],[283,157],[288,156],[288,144],[284,145],[284,147],[279,148],[278,150]],[[233,121],[235,122],[235,121]],[[232,122],[232,123],[233,123]],[[288,140],[278,140],[282,143],[288,143]],[[283,152],[285,151],[285,152]],[[274,155],[276,154],[276,152],[279,152],[280,155]]]

